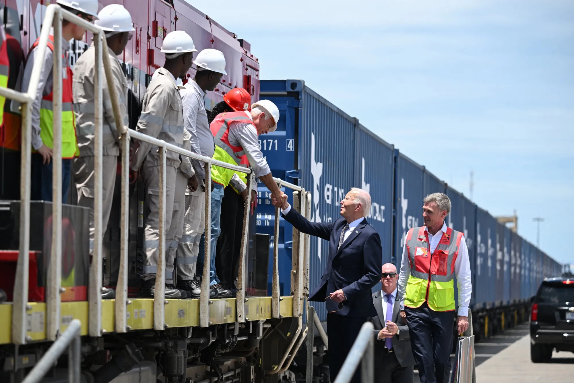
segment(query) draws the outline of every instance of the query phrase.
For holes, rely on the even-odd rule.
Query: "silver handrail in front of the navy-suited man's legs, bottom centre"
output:
[[[361,382],[372,383],[374,381],[374,328],[371,322],[363,323],[334,383],[350,382],[359,363],[361,363]]]

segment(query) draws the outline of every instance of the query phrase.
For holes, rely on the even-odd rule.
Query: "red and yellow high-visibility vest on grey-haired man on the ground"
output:
[[[414,227],[406,235],[406,252],[410,261],[410,276],[406,285],[405,306],[428,304],[434,311],[455,310],[455,261],[463,233],[447,229],[430,253],[426,226]]]

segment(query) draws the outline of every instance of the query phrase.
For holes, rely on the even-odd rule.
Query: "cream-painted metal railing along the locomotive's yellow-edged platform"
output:
[[[47,47],[48,37],[50,34],[51,26],[53,26],[53,40],[55,52],[61,51],[62,31],[61,25],[63,20],[73,22],[94,34],[95,45],[95,59],[96,59],[96,72],[94,76],[94,86],[96,89],[94,95],[95,103],[95,131],[94,131],[94,249],[92,254],[92,261],[90,264],[90,279],[88,284],[88,301],[89,301],[89,323],[88,334],[90,336],[101,336],[105,331],[102,329],[102,240],[104,228],[102,227],[102,133],[103,133],[103,96],[102,96],[102,81],[103,73],[105,73],[106,81],[113,83],[114,78],[111,72],[110,58],[107,54],[107,42],[104,32],[97,26],[90,24],[80,17],[75,16],[67,10],[62,9],[58,5],[49,5],[46,9],[44,22],[40,33],[40,41],[38,43],[38,57],[43,57]],[[60,328],[60,294],[65,290],[61,287],[61,220],[62,220],[62,171],[61,171],[61,111],[62,111],[62,56],[59,54],[54,55],[53,63],[53,203],[52,203],[52,249],[51,258],[48,265],[48,278],[46,283],[46,339],[55,341],[59,335]],[[22,104],[22,141],[21,141],[21,207],[20,207],[20,248],[17,262],[17,270],[14,283],[14,301],[13,301],[13,316],[12,316],[12,341],[15,344],[23,345],[30,339],[26,337],[26,311],[31,310],[28,305],[28,273],[29,273],[29,230],[30,230],[30,168],[31,168],[31,119],[30,113],[32,103],[36,98],[36,89],[40,80],[42,70],[42,60],[34,61],[32,68],[32,75],[30,76],[30,85],[26,93],[17,92],[9,88],[0,88],[0,95],[9,99],[17,100]],[[127,304],[131,301],[127,295],[127,273],[128,273],[128,250],[129,250],[129,142],[131,138],[135,140],[148,142],[158,147],[160,153],[160,233],[159,233],[159,259],[158,269],[155,285],[155,299],[154,299],[154,329],[164,330],[165,328],[165,304],[167,301],[164,298],[165,288],[165,195],[166,195],[166,153],[168,150],[174,153],[179,153],[183,156],[202,161],[205,167],[205,184],[211,184],[211,167],[217,165],[232,171],[250,174],[251,170],[245,167],[239,167],[222,161],[214,160],[213,158],[200,156],[192,153],[189,150],[180,148],[179,146],[168,144],[163,140],[158,140],[147,136],[139,131],[127,129],[123,125],[123,118],[119,110],[119,95],[115,87],[108,87],[110,94],[110,101],[113,108],[115,125],[117,126],[118,133],[121,135],[121,229],[120,229],[120,260],[119,260],[119,275],[116,288],[115,299],[115,331],[127,332],[130,327],[127,326]],[[274,179],[280,187],[286,187],[294,190],[294,195],[297,196],[297,203],[295,208],[302,212],[303,215],[309,216],[311,213],[311,195],[305,192],[305,189],[297,185],[288,183],[280,179]],[[251,188],[251,177],[247,177],[247,190]],[[203,278],[201,282],[201,295],[200,295],[200,312],[199,312],[199,325],[201,327],[210,326],[210,298],[209,298],[209,284],[210,284],[210,268],[205,265],[210,265],[211,262],[211,188],[205,188],[205,254],[204,254],[204,269]],[[248,232],[249,232],[249,208],[251,203],[251,193],[247,193],[245,202],[245,212],[243,218],[243,235],[241,239],[241,253],[239,259],[239,273],[238,273],[238,292],[236,295],[236,318],[238,322],[245,322],[248,318],[245,317],[245,302],[247,301],[245,289],[245,262],[248,247]],[[272,318],[280,318],[280,302],[281,297],[279,293],[279,275],[278,275],[278,237],[279,237],[279,218],[280,210],[276,208],[276,220],[274,227],[274,253],[273,253],[273,293],[272,293]],[[305,257],[301,259],[303,254],[309,252],[309,238],[308,235],[302,236],[297,230],[293,230],[294,238],[297,236],[297,250],[294,249],[293,256],[293,270],[292,270],[292,286],[294,286],[293,293],[293,316],[302,316],[302,303],[304,296],[308,296],[309,284],[309,260]],[[307,283],[303,285],[302,281]],[[297,300],[298,298],[298,300]],[[301,320],[300,320],[301,322]],[[299,323],[298,332],[301,331],[302,323]],[[295,337],[296,338],[296,337]],[[292,342],[293,346],[294,341]],[[291,348],[291,347],[290,347]],[[297,346],[298,348],[298,346]],[[284,360],[286,359],[286,355]]]

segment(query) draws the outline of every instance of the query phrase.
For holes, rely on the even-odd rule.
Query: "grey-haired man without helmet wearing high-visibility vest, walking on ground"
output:
[[[425,226],[409,230],[402,252],[398,298],[409,324],[410,343],[421,383],[446,383],[451,371],[456,277],[459,289],[457,334],[468,328],[472,293],[464,235],[447,227],[451,200],[443,193],[425,197]]]

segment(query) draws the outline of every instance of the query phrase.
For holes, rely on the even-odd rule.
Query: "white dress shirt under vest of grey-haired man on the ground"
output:
[[[426,230],[426,227],[425,227]],[[443,227],[436,232],[435,235],[429,234],[430,253],[434,253],[436,246],[439,245],[443,233],[447,231],[447,224],[443,223]],[[406,253],[406,246],[402,248],[402,262],[401,262],[401,275],[398,278],[398,293],[401,299],[401,310],[405,307],[405,291],[406,283],[410,276],[410,261],[409,254]],[[459,315],[468,316],[468,305],[470,304],[470,297],[472,293],[470,260],[468,259],[468,248],[464,236],[460,241],[459,255],[455,261],[455,276],[456,285],[459,288]]]

